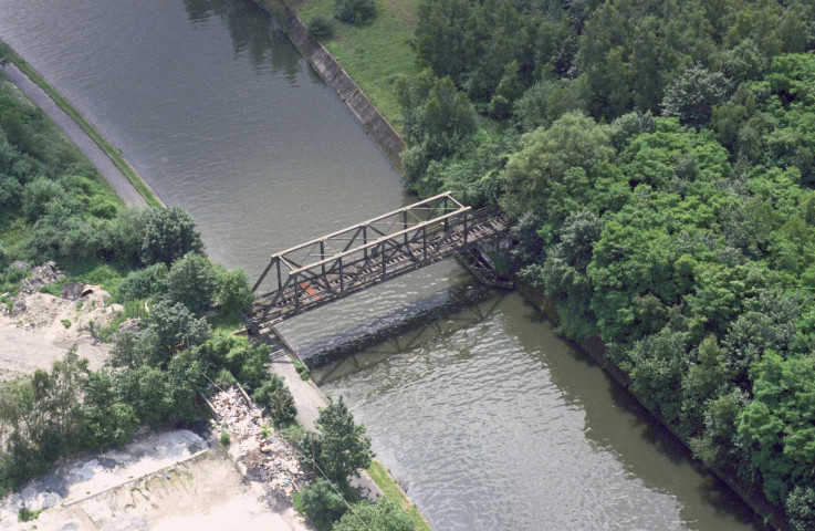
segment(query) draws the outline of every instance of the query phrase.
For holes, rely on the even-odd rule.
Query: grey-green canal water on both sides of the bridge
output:
[[[208,252],[270,253],[410,202],[338,97],[243,0],[0,0],[0,38]],[[282,326],[303,353],[470,282],[448,261]],[[317,374],[439,531],[750,530],[750,511],[515,294]]]

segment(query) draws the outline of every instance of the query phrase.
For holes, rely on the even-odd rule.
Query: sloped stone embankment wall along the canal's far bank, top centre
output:
[[[382,150],[398,168],[399,155],[407,147],[405,139],[383,116],[359,85],[351,79],[337,59],[317,39],[309,35],[305,22],[281,0],[252,0],[258,7],[272,15],[286,32],[289,39],[309,61],[314,71],[334,88],[339,98],[351,110],[365,131],[376,140]]]

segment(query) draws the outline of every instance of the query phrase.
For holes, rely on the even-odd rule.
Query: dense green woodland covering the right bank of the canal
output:
[[[419,73],[404,63],[390,85],[408,186],[514,217],[509,266],[560,332],[599,335],[697,457],[808,529],[812,2],[421,0],[416,15]]]

